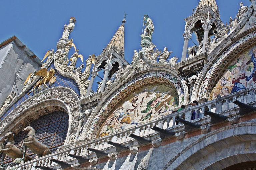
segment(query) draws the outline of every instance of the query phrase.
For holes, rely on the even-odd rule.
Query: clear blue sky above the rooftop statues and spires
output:
[[[251,4],[249,0],[216,0],[223,23],[229,22],[230,16],[236,16],[240,2],[247,6]],[[134,49],[141,49],[143,15],[147,14],[155,27],[152,42],[159,50],[167,47],[173,51],[170,57],[176,55],[179,62],[184,42],[184,19],[192,15],[192,9],[198,3],[199,0],[2,1],[0,42],[16,35],[42,59],[48,50],[56,51],[64,25],[69,24],[70,17],[75,17],[75,28],[69,38],[73,39],[85,61],[91,54],[101,54],[122,24],[125,12],[125,59],[131,63]],[[193,45],[189,41],[188,46]],[[69,57],[73,52],[71,49]]]

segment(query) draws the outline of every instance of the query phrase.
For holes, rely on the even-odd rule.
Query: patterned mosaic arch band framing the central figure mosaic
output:
[[[99,105],[102,105],[102,108],[93,111],[89,120],[86,123],[86,129],[83,130],[83,135],[85,135],[85,137],[89,139],[95,137],[97,131],[104,123],[105,118],[109,116],[109,113],[112,112],[112,109],[119,103],[119,101],[125,98],[134,89],[146,84],[156,82],[172,84],[178,92],[179,105],[187,102],[185,98],[187,92],[183,85],[184,83],[178,77],[165,71],[146,72],[122,85],[119,90],[116,90],[113,95],[106,99],[107,101],[102,100],[99,103]]]

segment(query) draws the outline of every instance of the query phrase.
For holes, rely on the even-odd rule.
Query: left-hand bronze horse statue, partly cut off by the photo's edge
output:
[[[10,156],[13,160],[16,158],[22,158],[24,162],[27,162],[28,160],[32,160],[32,158],[29,156],[27,152],[22,153],[20,149],[14,145],[15,137],[13,132],[6,133],[4,138],[6,139],[6,141],[0,146],[1,148],[0,153],[3,152],[1,166],[4,163],[4,158],[6,155]]]

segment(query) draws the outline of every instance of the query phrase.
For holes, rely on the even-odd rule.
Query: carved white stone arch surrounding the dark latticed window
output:
[[[69,131],[65,144],[74,141],[77,134],[79,121],[78,96],[66,87],[53,87],[39,92],[22,102],[13,109],[0,123],[0,138],[9,131],[19,131],[28,123],[40,116],[56,110],[66,111],[69,115]]]

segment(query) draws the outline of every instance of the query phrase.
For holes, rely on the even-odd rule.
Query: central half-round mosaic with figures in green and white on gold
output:
[[[114,112],[106,119],[99,137],[170,114],[179,104],[178,100],[178,92],[172,84],[140,86],[113,108]]]

